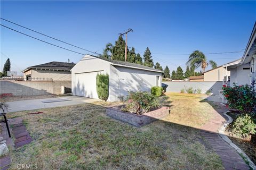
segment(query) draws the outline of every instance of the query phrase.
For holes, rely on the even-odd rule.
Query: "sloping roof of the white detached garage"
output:
[[[86,55],[88,55],[88,54],[86,54]],[[132,69],[140,69],[140,70],[161,72],[161,73],[164,72],[164,71],[161,71],[161,70],[158,70],[158,69],[154,69],[154,68],[152,68],[152,67],[148,67],[148,66],[141,65],[141,64],[135,64],[135,63],[129,63],[129,62],[111,60],[111,59],[108,59],[108,58],[103,58],[103,57],[98,57],[98,56],[93,56],[93,55],[88,55],[88,56],[96,57],[96,58],[99,58],[99,59],[101,59],[101,60],[107,61],[107,62],[109,62],[111,65],[129,67],[129,68],[132,68]]]

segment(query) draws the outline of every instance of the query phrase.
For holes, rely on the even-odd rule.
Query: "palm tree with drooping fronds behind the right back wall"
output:
[[[212,69],[215,69],[217,67],[217,63],[212,60],[207,61],[204,53],[200,52],[199,50],[195,50],[193,53],[190,54],[187,64],[189,64],[190,67],[194,67],[196,69],[201,66],[203,72],[205,72],[205,69],[209,64],[212,66]]]

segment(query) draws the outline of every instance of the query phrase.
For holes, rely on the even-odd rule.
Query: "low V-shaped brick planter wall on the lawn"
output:
[[[129,123],[136,127],[141,127],[145,124],[159,120],[160,118],[169,115],[169,107],[162,107],[156,109],[155,111],[151,111],[142,115],[137,115],[129,112],[122,112],[121,110],[112,107],[107,107],[106,109],[106,113],[109,117]]]

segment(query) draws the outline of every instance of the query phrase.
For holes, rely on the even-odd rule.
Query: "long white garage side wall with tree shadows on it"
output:
[[[110,65],[108,100],[119,100],[118,97],[125,97],[128,91],[150,91],[151,87],[156,86],[157,75],[161,84],[161,73]]]

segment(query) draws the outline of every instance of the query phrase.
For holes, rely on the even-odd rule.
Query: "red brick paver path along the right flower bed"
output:
[[[222,140],[218,133],[223,122],[226,121],[226,116],[223,115],[226,111],[228,109],[225,106],[216,109],[213,118],[201,127],[201,134],[217,152],[225,169],[250,169],[238,152]]]

